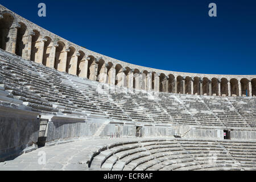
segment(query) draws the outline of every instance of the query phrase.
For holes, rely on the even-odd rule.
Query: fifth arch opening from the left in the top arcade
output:
[[[64,42],[59,41],[57,42],[58,46],[56,47],[55,51],[55,61],[54,61],[54,68],[57,71],[65,71],[66,63],[67,63],[67,52]]]

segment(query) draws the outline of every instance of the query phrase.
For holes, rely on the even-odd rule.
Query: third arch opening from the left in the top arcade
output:
[[[33,30],[34,35],[32,35],[31,42],[31,61],[35,61],[38,63],[39,59],[39,47],[40,47],[40,32],[37,30]]]

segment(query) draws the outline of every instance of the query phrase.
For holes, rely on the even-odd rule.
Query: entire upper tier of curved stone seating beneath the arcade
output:
[[[256,97],[193,96],[102,84],[0,50],[1,86],[41,113],[94,114],[112,121],[255,127]]]

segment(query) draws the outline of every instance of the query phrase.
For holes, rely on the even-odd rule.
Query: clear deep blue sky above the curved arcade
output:
[[[39,18],[38,3],[47,6]],[[217,5],[217,17],[208,5]],[[92,51],[169,71],[256,75],[256,1],[2,1]]]

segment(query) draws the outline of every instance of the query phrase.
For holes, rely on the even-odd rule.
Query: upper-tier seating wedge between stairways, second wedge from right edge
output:
[[[245,123],[226,97],[201,96],[208,107],[224,123],[225,126],[247,127]]]

